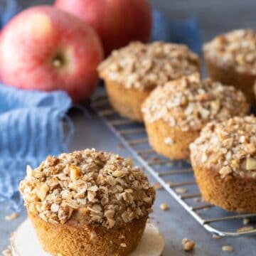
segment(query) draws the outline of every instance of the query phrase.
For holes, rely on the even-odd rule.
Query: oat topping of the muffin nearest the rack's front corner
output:
[[[190,146],[191,159],[229,175],[256,178],[256,117],[210,122]]]

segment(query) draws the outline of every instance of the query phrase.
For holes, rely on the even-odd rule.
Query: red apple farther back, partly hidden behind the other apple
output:
[[[152,17],[148,0],[56,0],[55,6],[95,28],[105,55],[130,41],[149,41]]]

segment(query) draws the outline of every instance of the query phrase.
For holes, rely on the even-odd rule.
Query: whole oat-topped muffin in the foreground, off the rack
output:
[[[20,191],[43,249],[63,256],[128,255],[155,197],[131,160],[95,149],[28,167]]]

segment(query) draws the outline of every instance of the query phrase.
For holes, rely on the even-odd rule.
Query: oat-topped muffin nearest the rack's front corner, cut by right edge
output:
[[[256,213],[256,117],[210,122],[190,149],[206,201],[225,210]]]

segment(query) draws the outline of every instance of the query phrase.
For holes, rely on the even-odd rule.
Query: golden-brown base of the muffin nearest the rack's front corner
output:
[[[240,176],[221,178],[218,170],[200,166],[191,157],[191,164],[203,199],[224,210],[256,213],[256,179]]]

